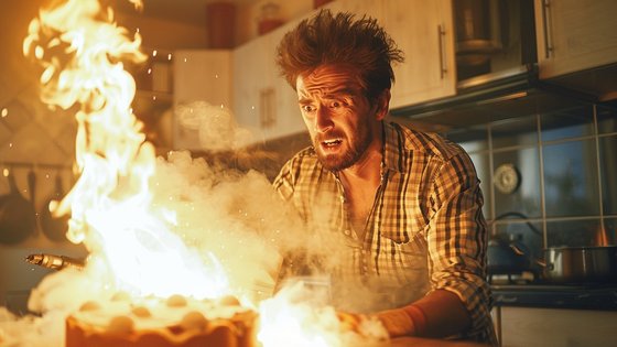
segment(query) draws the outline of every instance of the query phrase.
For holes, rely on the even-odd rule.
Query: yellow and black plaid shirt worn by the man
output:
[[[372,293],[390,293],[393,306],[431,290],[453,292],[473,322],[459,337],[496,344],[485,281],[484,202],[469,156],[436,134],[397,123],[383,122],[383,133],[381,183],[362,239],[347,216],[337,173],[320,164],[313,148],[292,158],[273,186],[292,202],[310,230],[327,230],[321,236],[325,243],[346,246],[346,260],[326,267],[333,278],[356,279]]]

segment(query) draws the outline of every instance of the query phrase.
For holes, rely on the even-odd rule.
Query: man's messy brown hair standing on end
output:
[[[294,90],[297,76],[321,65],[344,65],[358,74],[369,100],[391,87],[392,63],[403,59],[403,53],[377,20],[366,15],[356,20],[348,12],[334,15],[327,9],[303,20],[277,48],[281,75]]]

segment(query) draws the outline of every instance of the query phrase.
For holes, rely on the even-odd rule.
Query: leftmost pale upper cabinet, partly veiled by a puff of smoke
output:
[[[191,50],[176,51],[174,54],[174,106],[194,101],[206,101],[215,106],[231,108],[231,51]],[[173,117],[173,148],[199,151],[197,129],[178,123]]]

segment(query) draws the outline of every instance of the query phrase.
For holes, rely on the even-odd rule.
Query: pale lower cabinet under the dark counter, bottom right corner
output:
[[[617,346],[616,311],[500,306],[492,318],[502,347]]]

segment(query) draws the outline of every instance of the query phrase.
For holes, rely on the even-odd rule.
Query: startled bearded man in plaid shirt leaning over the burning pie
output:
[[[273,185],[328,249],[316,262],[342,316],[376,314],[392,337],[496,344],[474,165],[458,145],[383,120],[402,61],[367,18],[322,10],[286,33],[278,64],[313,145]],[[369,299],[349,300],[358,293]]]

